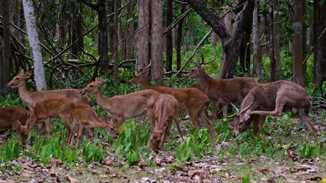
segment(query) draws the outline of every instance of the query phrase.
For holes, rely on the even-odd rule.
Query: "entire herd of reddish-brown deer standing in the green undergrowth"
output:
[[[187,74],[187,78],[196,78],[198,83],[190,88],[154,87],[148,81],[147,67],[137,68],[130,84],[140,85],[141,91],[105,98],[100,87],[106,80],[98,78],[88,83],[84,89],[56,89],[29,92],[26,80],[31,73],[21,70],[8,82],[6,87],[17,88],[20,99],[29,107],[1,107],[0,129],[14,128],[21,134],[22,144],[26,143],[29,130],[35,123],[40,132],[47,137],[50,134],[51,121],[60,117],[67,128],[66,143],[74,143],[75,129],[77,143],[81,139],[84,127],[101,128],[111,137],[118,137],[124,119],[132,119],[147,114],[152,132],[148,146],[160,150],[169,139],[171,125],[174,121],[183,139],[178,113],[187,112],[194,128],[201,128],[201,120],[214,140],[215,122],[218,108],[222,108],[224,117],[234,117],[233,137],[249,128],[251,121],[254,134],[258,136],[267,115],[280,116],[282,112],[291,111],[306,125],[313,136],[318,139],[312,123],[309,121],[311,107],[306,90],[294,82],[279,80],[261,84],[254,78],[212,79],[205,73],[205,63],[196,66]],[[90,106],[87,95],[93,94],[96,103],[107,113],[111,120],[104,119]],[[212,103],[212,120],[206,116],[206,107]],[[240,110],[233,103],[240,103]],[[227,115],[228,106],[235,108],[235,113]],[[117,126],[117,130],[116,127]]]

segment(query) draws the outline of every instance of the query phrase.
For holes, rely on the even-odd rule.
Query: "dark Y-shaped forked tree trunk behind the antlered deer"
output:
[[[250,26],[247,22],[252,21],[255,0],[248,0],[244,4],[242,10],[235,17],[231,34],[227,32],[223,19],[205,8],[201,1],[187,0],[187,2],[221,38],[224,53],[219,78],[233,78],[244,30]]]

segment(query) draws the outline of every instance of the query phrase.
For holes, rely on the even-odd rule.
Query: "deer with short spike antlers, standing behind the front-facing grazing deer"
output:
[[[201,128],[199,123],[199,118],[206,125],[210,136],[214,137],[214,124],[210,124],[208,117],[205,114],[205,107],[210,102],[208,96],[201,92],[200,89],[196,88],[169,88],[169,87],[154,87],[148,82],[148,68],[150,67],[150,62],[148,66],[143,68],[137,68],[137,71],[129,82],[133,85],[140,85],[141,89],[153,89],[160,94],[171,94],[178,101],[179,112],[187,112],[189,114],[190,120],[194,124],[196,130]]]

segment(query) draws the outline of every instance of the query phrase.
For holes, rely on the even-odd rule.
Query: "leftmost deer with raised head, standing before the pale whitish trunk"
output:
[[[29,92],[26,87],[26,81],[28,78],[31,77],[32,72],[27,71],[25,73],[24,69],[20,70],[18,73],[8,84],[6,87],[8,89],[17,88],[18,93],[20,94],[20,99],[23,103],[29,107],[29,110],[33,110],[36,103],[43,101],[49,98],[56,98],[56,97],[66,97],[70,98],[74,101],[78,101],[79,99],[83,100],[84,103],[91,103],[91,100],[87,96],[81,96],[79,94],[79,89],[54,89],[54,90],[47,90],[47,91],[36,91],[36,92]],[[39,129],[47,129],[42,126],[40,123]],[[45,133],[43,131],[43,133]]]

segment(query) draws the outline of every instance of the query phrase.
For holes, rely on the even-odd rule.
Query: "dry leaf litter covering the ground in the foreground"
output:
[[[290,131],[300,133],[303,125],[299,121],[295,123]],[[325,121],[317,121],[314,125],[325,139]],[[0,182],[326,182],[325,152],[320,157],[302,157],[297,150],[300,140],[290,143],[287,138],[284,137],[283,146],[274,146],[283,150],[284,158],[281,159],[265,155],[242,156],[240,148],[231,148],[239,139],[215,143],[210,155],[200,158],[192,155],[186,162],[176,159],[176,148],[164,148],[158,154],[150,153],[149,157],[140,153],[137,164],[127,165],[124,159],[116,157],[112,145],[105,142],[102,145],[107,154],[103,161],[87,163],[78,157],[75,166],[63,166],[61,159],[54,157],[45,165],[20,153],[19,158],[0,164]],[[1,146],[2,143],[0,141]],[[221,152],[224,153],[221,155]],[[149,166],[148,161],[153,164]]]

